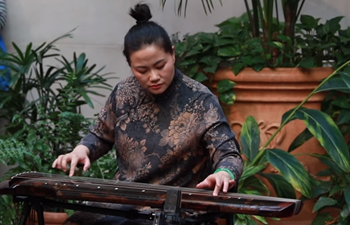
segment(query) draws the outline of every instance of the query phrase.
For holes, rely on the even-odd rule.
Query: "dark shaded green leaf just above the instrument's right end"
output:
[[[278,197],[296,198],[293,186],[280,174],[260,173],[260,175],[270,182]]]

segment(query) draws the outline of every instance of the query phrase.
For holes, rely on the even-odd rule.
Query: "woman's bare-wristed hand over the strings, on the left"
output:
[[[69,176],[74,175],[77,165],[83,165],[83,170],[87,171],[90,167],[89,153],[90,151],[86,146],[78,145],[72,152],[58,156],[52,163],[52,168],[57,168],[66,172],[68,170],[68,164],[70,164]]]

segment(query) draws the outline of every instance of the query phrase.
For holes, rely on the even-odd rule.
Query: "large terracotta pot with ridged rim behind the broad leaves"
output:
[[[227,119],[238,136],[245,119],[253,116],[260,127],[261,144],[265,144],[271,134],[279,127],[282,115],[297,106],[320,83],[320,81],[333,72],[332,68],[265,68],[256,72],[250,68],[244,69],[235,76],[230,69],[222,69],[215,74],[215,81],[229,79],[236,82],[234,91],[236,101],[232,106],[223,105],[227,113]],[[214,85],[215,92],[215,85]],[[319,93],[313,96],[304,107],[320,109],[320,103],[325,94]],[[292,121],[287,124],[276,138],[271,142],[270,148],[288,150],[294,138],[305,129],[302,121]],[[293,154],[319,153],[325,150],[316,139],[311,139],[296,149]],[[306,170],[315,175],[325,167],[318,159],[310,156],[297,156]],[[277,173],[272,167],[265,172]],[[298,193],[297,193],[298,194]],[[298,196],[300,196],[298,194]],[[312,208],[314,201],[306,201],[302,212],[292,218],[282,219],[277,224],[311,224],[314,214]],[[276,224],[271,222],[269,224]]]

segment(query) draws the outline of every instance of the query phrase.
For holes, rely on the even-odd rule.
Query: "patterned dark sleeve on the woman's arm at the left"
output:
[[[114,144],[115,102],[116,90],[108,97],[101,109],[97,121],[90,127],[90,132],[79,144],[90,150],[90,160],[93,162],[112,149]]]

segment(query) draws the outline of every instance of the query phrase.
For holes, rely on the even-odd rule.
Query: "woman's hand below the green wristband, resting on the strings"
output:
[[[235,180],[231,180],[229,173],[225,171],[220,171],[209,175],[205,180],[197,184],[197,188],[201,189],[214,189],[213,195],[217,196],[222,190],[226,193],[228,190],[235,186]]]

